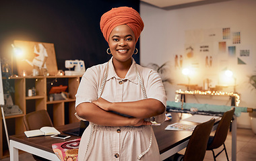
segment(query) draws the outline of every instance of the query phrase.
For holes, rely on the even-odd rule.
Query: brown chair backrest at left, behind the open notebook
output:
[[[44,126],[53,126],[53,122],[44,109],[28,113],[23,117],[26,130],[40,129]]]

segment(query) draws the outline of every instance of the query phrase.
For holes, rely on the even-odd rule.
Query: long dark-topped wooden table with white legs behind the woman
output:
[[[154,133],[156,136],[156,140],[158,142],[159,150],[160,150],[160,158],[164,160],[172,154],[179,152],[183,148],[187,147],[187,143],[189,142],[189,137],[191,136],[191,131],[168,131],[165,130],[165,127],[169,124],[179,122],[181,113],[172,113],[172,121],[165,121],[162,125],[154,125]],[[190,114],[183,113],[182,119],[185,117],[191,116]],[[185,123],[189,124],[190,122],[186,121]],[[196,125],[196,123],[192,123]],[[75,127],[79,127],[79,123],[71,123],[68,125],[63,125],[56,127],[59,131],[63,131],[66,129],[72,129]],[[57,156],[53,153],[53,149],[51,147],[52,144],[65,142],[69,140],[74,140],[79,137],[71,136],[71,138],[67,140],[54,139],[50,136],[40,136],[35,138],[26,138],[25,134],[10,136],[10,160],[17,161],[18,160],[18,150],[23,150],[25,152],[36,154],[43,158],[47,158],[49,160],[58,160]]]

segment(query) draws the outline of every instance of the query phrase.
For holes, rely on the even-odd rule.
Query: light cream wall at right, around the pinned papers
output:
[[[235,0],[225,1],[221,3],[212,3],[209,5],[199,5],[195,7],[187,7],[183,9],[164,10],[146,3],[141,3],[140,13],[145,23],[145,28],[141,34],[141,65],[149,66],[150,63],[161,66],[167,63],[162,71],[168,71],[165,76],[168,77],[170,83],[165,82],[166,93],[169,101],[174,101],[175,91],[177,89],[185,89],[185,87],[177,85],[178,83],[187,83],[187,78],[181,74],[180,70],[175,70],[174,56],[176,54],[185,54],[185,45],[187,44],[187,32],[209,32],[218,31],[221,33],[222,28],[230,28],[233,32],[241,32],[241,44],[236,45],[236,51],[243,48],[250,50],[250,57],[244,65],[237,64],[238,56],[230,58],[224,54],[218,55],[216,48],[218,42],[213,42],[211,49],[216,52],[214,56],[218,56],[218,61],[222,60],[222,56],[226,59],[228,68],[236,71],[236,91],[241,95],[240,107],[256,108],[255,98],[256,89],[253,83],[249,83],[249,77],[256,75],[256,1],[253,0]],[[222,38],[222,36],[220,36]],[[220,40],[218,40],[220,41]],[[201,43],[201,42],[200,42]],[[199,58],[200,59],[200,58]],[[214,85],[218,85],[218,72],[220,63],[216,63],[216,70],[206,70],[214,72],[212,81]],[[199,67],[203,69],[203,66]],[[200,72],[201,70],[199,70]],[[162,74],[162,73],[160,73]],[[197,78],[191,78],[191,84],[203,86],[203,75],[197,75]],[[216,80],[214,80],[216,74]],[[224,91],[232,91],[233,87],[226,87]],[[230,105],[228,97],[187,97],[190,103],[209,103],[217,105]],[[238,117],[238,127],[251,128],[249,121],[249,113],[242,113]]]

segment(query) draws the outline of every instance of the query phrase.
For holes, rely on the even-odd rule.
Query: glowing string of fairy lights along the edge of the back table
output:
[[[240,96],[237,93],[233,92],[222,92],[222,91],[182,91],[181,89],[176,91],[177,94],[186,94],[186,95],[216,95],[216,96],[229,96],[235,98],[235,105],[238,106],[240,103]],[[178,99],[178,98],[175,98]]]

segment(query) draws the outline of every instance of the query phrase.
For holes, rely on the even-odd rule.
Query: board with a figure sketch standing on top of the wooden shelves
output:
[[[58,72],[55,47],[52,43],[14,40],[13,48],[19,76],[47,76]]]

